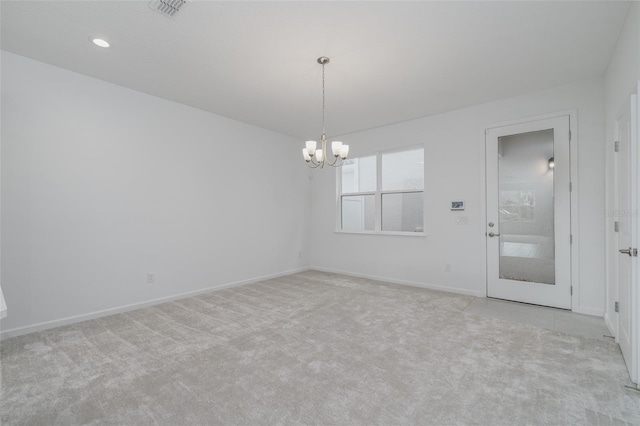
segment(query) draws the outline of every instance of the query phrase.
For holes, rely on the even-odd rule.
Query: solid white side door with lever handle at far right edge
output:
[[[633,159],[637,155],[637,142],[634,143],[636,115],[636,95],[631,96],[630,105],[618,118],[617,166],[617,236],[618,236],[618,336],[629,375],[637,382],[637,357],[635,357],[633,334],[637,324],[637,310],[633,308],[634,282],[636,278],[636,251],[634,232],[637,225],[637,204],[634,192],[637,190],[637,165]],[[635,176],[635,177],[634,177]],[[636,184],[634,184],[636,183]]]

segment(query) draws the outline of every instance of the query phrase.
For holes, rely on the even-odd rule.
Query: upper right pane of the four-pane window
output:
[[[382,154],[382,190],[424,189],[424,148]]]

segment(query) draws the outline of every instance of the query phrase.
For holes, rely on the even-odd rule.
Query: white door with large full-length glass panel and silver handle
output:
[[[571,309],[569,116],[486,131],[487,295]]]

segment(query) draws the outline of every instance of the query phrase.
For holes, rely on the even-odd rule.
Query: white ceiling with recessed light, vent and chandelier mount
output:
[[[602,76],[629,2],[6,1],[2,49],[300,139]],[[100,36],[101,49],[89,42]]]

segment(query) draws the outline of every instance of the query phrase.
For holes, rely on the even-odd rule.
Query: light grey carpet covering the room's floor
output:
[[[614,343],[320,272],[2,342],[3,424],[640,424]]]

